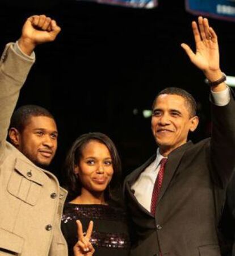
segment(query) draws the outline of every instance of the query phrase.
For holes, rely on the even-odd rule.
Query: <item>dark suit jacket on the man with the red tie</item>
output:
[[[125,200],[136,234],[131,255],[159,255],[160,250],[162,256],[221,255],[217,225],[235,166],[234,114],[233,98],[226,106],[213,105],[212,137],[197,144],[187,142],[169,154],[156,216],[139,204],[131,190],[156,155],[126,177]]]

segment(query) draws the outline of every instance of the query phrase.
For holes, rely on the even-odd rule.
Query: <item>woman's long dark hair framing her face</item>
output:
[[[82,157],[83,148],[90,141],[98,141],[104,144],[108,148],[108,151],[110,151],[114,174],[109,186],[106,188],[106,191],[104,191],[104,197],[106,201],[119,201],[119,199],[116,199],[116,197],[120,193],[121,188],[121,161],[114,142],[112,142],[111,139],[103,133],[83,134],[74,141],[72,147],[70,148],[64,165],[66,176],[65,187],[69,192],[68,200],[73,200],[75,197],[81,194],[82,184],[78,179],[78,176],[74,173],[74,167],[79,163]]]

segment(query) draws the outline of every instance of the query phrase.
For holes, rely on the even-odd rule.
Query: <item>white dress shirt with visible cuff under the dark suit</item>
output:
[[[227,87],[222,92],[212,92],[212,100],[213,104],[217,106],[225,106],[230,101],[229,88]],[[159,148],[157,149],[156,159],[145,168],[143,172],[141,172],[138,179],[132,185],[131,189],[134,191],[134,195],[139,201],[139,203],[146,210],[150,212],[151,207],[151,199],[153,193],[154,183],[156,181],[156,177],[160,170],[160,162],[164,158],[163,155],[160,154]]]

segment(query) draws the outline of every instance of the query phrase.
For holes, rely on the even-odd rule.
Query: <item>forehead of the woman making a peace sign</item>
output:
[[[82,149],[82,155],[87,156],[101,156],[107,155],[110,156],[110,151],[107,146],[98,141],[89,141]]]

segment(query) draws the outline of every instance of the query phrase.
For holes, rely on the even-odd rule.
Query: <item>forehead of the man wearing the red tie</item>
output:
[[[153,109],[176,109],[188,112],[188,106],[186,100],[176,94],[160,94],[157,97]]]

